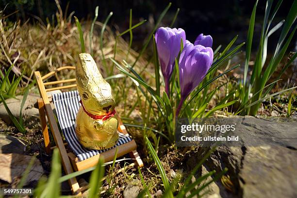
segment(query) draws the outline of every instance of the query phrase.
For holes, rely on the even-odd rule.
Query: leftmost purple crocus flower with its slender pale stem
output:
[[[181,28],[161,27],[155,34],[161,71],[165,80],[165,92],[168,96],[169,79],[175,65],[175,58],[178,57],[181,50],[181,38],[183,43],[185,43],[185,32]]]

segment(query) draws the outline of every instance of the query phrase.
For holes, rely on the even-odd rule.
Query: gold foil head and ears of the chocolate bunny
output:
[[[84,108],[93,115],[105,115],[115,109],[111,86],[101,76],[88,53],[79,54],[81,65],[76,68],[76,80]]]

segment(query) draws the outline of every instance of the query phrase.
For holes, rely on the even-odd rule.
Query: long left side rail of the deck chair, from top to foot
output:
[[[53,111],[51,109],[50,103],[49,103],[49,98],[47,96],[47,92],[45,90],[42,78],[40,76],[40,72],[39,71],[35,71],[35,78],[37,81],[37,85],[38,85],[38,90],[39,93],[43,99],[44,102],[44,107],[45,107],[45,111],[46,114],[48,116],[48,120],[49,120],[49,126],[50,126],[50,130],[52,132],[52,135],[54,137],[56,146],[59,148],[60,154],[61,154],[61,158],[62,158],[62,165],[64,167],[64,170],[66,172],[66,174],[70,174],[73,172],[72,166],[70,164],[67,152],[66,152],[66,148],[64,146],[61,134],[59,132],[59,128],[58,125],[56,123]],[[81,192],[79,192],[80,186],[76,180],[76,178],[71,178],[68,180],[70,187],[73,191],[74,194],[81,194]]]

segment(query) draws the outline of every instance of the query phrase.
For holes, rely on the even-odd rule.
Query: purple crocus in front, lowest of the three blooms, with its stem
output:
[[[182,103],[188,95],[199,85],[213,63],[214,52],[212,48],[202,45],[194,46],[186,41],[180,56],[180,86],[181,101],[176,111],[178,116]]]

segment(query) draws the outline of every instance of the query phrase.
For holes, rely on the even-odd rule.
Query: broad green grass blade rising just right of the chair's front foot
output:
[[[168,178],[166,176],[166,173],[165,173],[165,170],[164,170],[164,167],[156,153],[156,151],[154,150],[154,148],[152,147],[150,141],[148,140],[148,137],[146,137],[146,142],[147,142],[147,145],[148,145],[148,150],[150,152],[150,154],[152,155],[156,165],[157,165],[157,168],[161,174],[161,178],[162,178],[162,181],[163,181],[163,185],[164,185],[164,188],[165,188],[165,191],[166,190],[169,190],[170,189],[170,185],[169,185],[169,181],[168,181]],[[170,197],[173,198],[173,195],[171,194]]]

